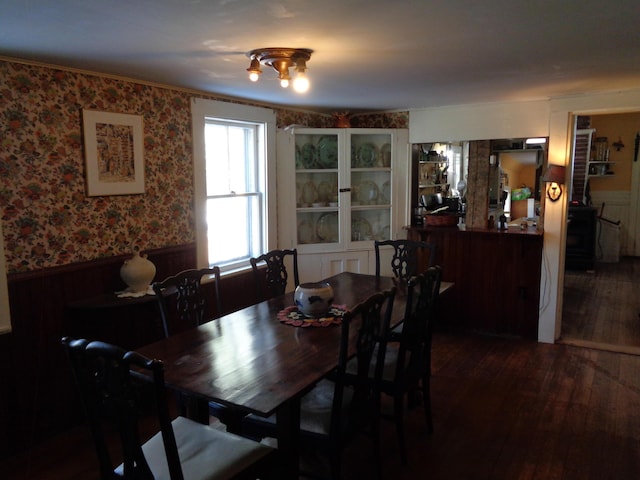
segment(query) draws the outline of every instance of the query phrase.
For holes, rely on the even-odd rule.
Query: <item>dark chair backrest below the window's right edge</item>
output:
[[[293,282],[294,286],[297,287],[300,285],[300,279],[298,275],[298,251],[295,248],[292,250],[271,250],[259,257],[250,259],[256,283],[258,301],[276,297],[285,293],[287,289],[287,281],[289,280],[289,273],[287,272],[287,267],[285,265],[285,258],[287,256],[292,257]],[[259,264],[262,263],[266,264],[264,274],[263,269],[259,268]],[[266,294],[263,291],[265,278],[268,290]]]

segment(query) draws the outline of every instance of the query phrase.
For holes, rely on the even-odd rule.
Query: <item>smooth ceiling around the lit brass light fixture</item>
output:
[[[315,111],[640,86],[637,0],[0,0],[0,55]],[[246,52],[314,50],[311,90]]]

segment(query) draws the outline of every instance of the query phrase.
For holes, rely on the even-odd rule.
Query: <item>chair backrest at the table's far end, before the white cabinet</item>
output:
[[[425,258],[428,259],[426,267],[433,265],[436,255],[436,246],[433,243],[418,240],[376,240],[374,242],[376,253],[376,276],[380,276],[380,247],[389,245],[393,247],[391,258],[391,270],[393,276],[408,281],[414,275],[420,273],[420,265],[424,265]],[[426,256],[426,257],[425,257]]]

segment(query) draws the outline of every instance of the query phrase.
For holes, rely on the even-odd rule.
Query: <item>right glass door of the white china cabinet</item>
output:
[[[349,136],[351,242],[391,238],[391,133]]]

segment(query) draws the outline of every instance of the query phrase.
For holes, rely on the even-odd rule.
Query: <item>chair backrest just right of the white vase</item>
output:
[[[201,268],[184,270],[152,284],[158,299],[165,337],[172,332],[172,320],[182,326],[197,327],[210,320],[206,296],[202,292],[202,277],[213,275],[216,316],[222,315],[220,299],[220,269]]]

